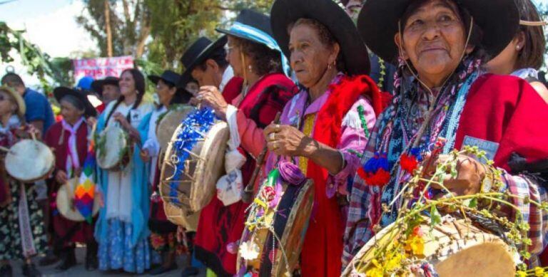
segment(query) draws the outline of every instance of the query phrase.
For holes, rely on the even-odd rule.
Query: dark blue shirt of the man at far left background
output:
[[[23,95],[26,105],[25,120],[26,122],[32,122],[36,120],[44,121],[44,130],[40,130],[42,134],[45,134],[51,125],[54,124],[54,111],[51,110],[49,101],[41,93],[38,93],[30,88],[25,90]]]

